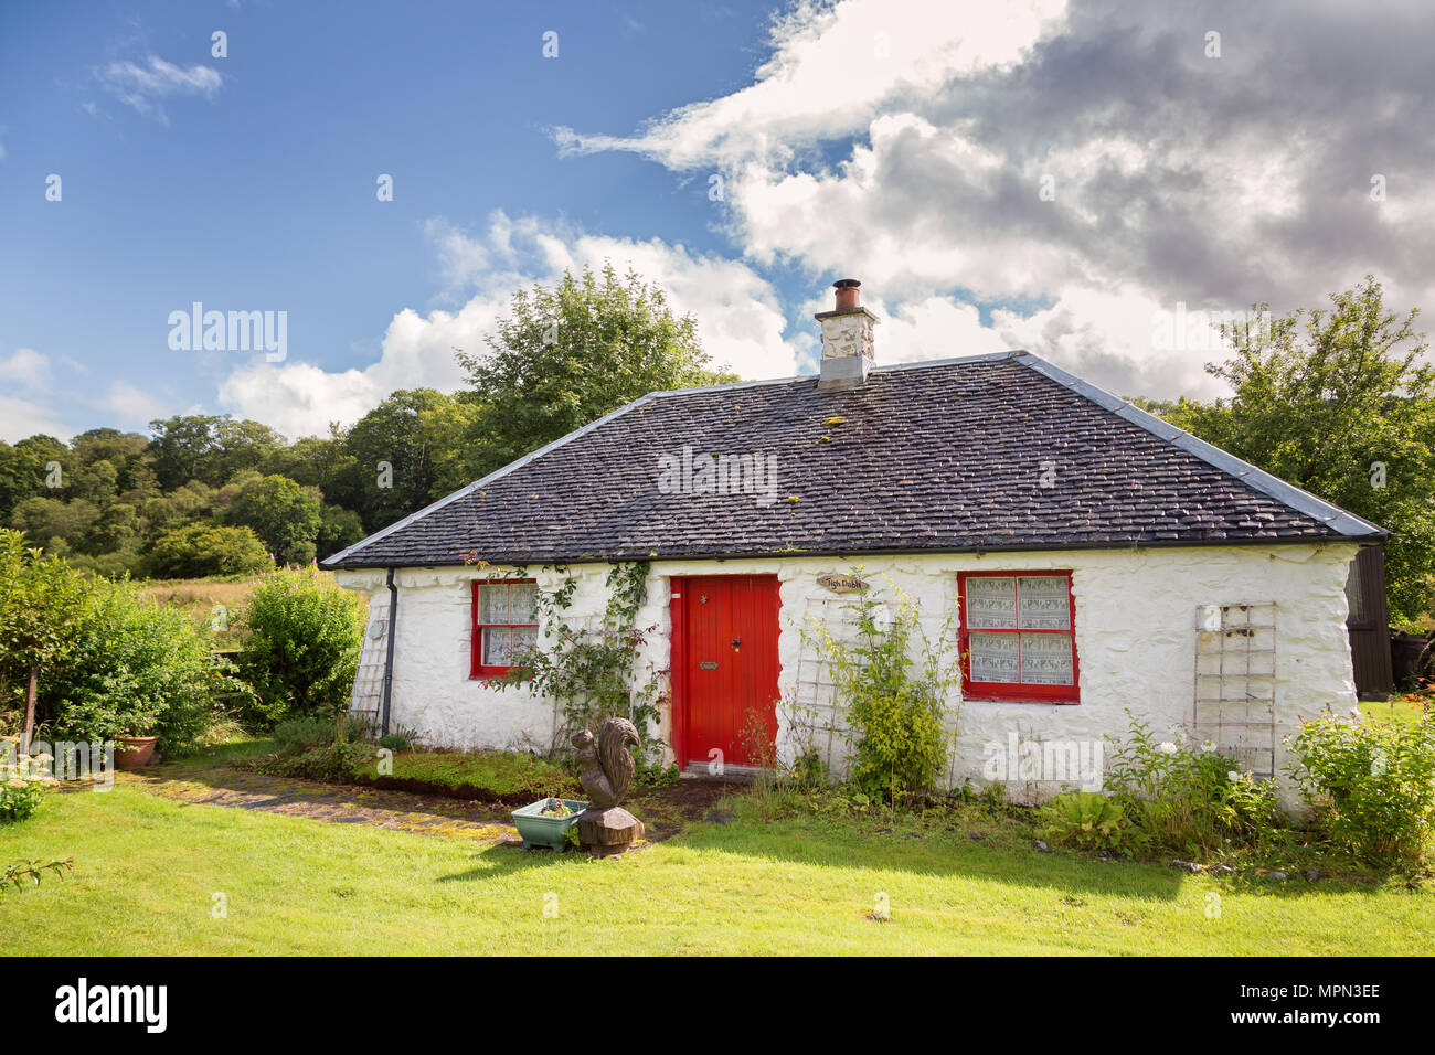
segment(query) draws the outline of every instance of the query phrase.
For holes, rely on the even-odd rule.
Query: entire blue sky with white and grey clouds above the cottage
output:
[[[0,438],[353,421],[604,257],[745,376],[806,369],[855,274],[880,357],[1201,393],[1201,334],[1149,337],[1177,304],[1435,289],[1429,14],[1375,6],[7,4]],[[286,311],[286,359],[171,349],[192,301]]]

